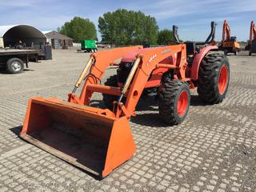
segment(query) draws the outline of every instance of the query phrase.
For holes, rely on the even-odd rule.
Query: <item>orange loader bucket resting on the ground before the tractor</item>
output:
[[[20,136],[27,142],[105,177],[130,159],[134,139],[126,117],[57,98],[31,98]]]

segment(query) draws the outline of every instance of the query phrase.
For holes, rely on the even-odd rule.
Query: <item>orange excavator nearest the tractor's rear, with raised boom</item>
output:
[[[223,23],[222,42],[218,48],[219,50],[223,50],[226,55],[228,53],[237,55],[240,51],[240,43],[237,42],[237,37],[230,36],[230,26],[227,24],[226,20]]]

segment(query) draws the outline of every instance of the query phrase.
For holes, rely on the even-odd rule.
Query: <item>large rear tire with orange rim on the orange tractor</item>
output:
[[[202,59],[198,75],[198,96],[215,104],[226,97],[230,82],[230,64],[223,54],[208,54]]]

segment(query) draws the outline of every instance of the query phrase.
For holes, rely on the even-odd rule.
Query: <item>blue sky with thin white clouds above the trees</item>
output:
[[[219,40],[225,18],[231,35],[246,41],[250,21],[256,22],[256,0],[0,0],[0,5],[0,26],[30,24],[40,30],[56,30],[74,16],[90,18],[97,26],[98,17],[107,11],[141,10],[154,16],[160,29],[178,25],[180,38],[194,41],[206,39],[211,21],[218,22],[216,38]]]

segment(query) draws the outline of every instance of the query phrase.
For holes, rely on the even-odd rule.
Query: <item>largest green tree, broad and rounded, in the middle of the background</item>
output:
[[[115,10],[98,18],[98,29],[102,42],[118,45],[154,44],[158,37],[156,19],[141,11]]]

